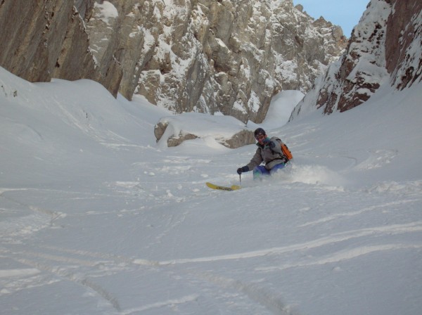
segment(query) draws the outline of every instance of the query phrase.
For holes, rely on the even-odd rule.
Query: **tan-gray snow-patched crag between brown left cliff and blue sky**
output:
[[[131,58],[138,60],[136,71],[124,66],[120,91],[175,113],[221,112],[260,122],[274,94],[310,89],[346,44],[340,27],[315,21],[291,0],[173,1],[171,8],[158,0],[112,2],[118,11],[117,2],[131,8],[120,15],[136,20],[127,24],[138,30],[132,39],[120,37],[139,37],[143,52]]]

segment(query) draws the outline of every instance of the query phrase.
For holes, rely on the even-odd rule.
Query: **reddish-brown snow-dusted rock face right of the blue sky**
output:
[[[390,80],[404,89],[421,80],[422,2],[419,0],[372,0],[354,27],[347,50],[325,77],[293,111],[293,119],[310,107],[330,114],[343,112],[367,101]]]

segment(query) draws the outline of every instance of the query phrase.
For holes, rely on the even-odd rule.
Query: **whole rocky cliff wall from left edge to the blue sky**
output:
[[[261,122],[274,94],[309,90],[345,44],[292,0],[0,1],[2,67],[95,79],[174,113]]]

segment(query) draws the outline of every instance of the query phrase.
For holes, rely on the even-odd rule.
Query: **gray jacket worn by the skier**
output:
[[[279,139],[273,136],[270,139],[270,142],[274,143],[274,148],[272,149],[269,147],[269,143],[264,146],[257,143],[258,148],[255,155],[253,155],[252,160],[246,165],[249,167],[250,171],[258,165],[261,165],[262,162],[265,163],[265,168],[268,170],[272,169],[275,165],[286,163],[286,158],[283,153],[281,153]]]

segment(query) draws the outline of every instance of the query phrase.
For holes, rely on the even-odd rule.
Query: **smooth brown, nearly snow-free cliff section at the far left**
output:
[[[98,72],[77,11],[89,16],[93,6],[94,0],[1,1],[0,65],[30,82],[94,79],[117,95],[122,69],[108,60],[107,72]]]

